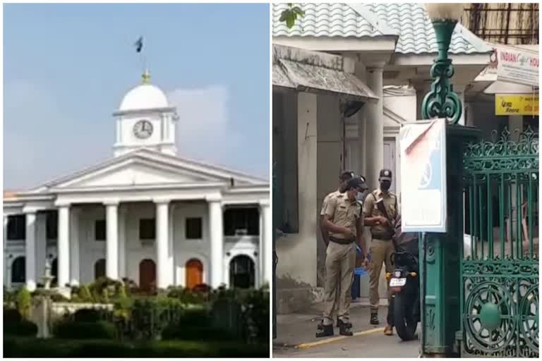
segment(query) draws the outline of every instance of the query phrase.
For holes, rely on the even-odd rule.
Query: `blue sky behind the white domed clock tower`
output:
[[[4,189],[112,157],[140,82],[178,106],[178,154],[269,176],[267,4],[4,4]]]

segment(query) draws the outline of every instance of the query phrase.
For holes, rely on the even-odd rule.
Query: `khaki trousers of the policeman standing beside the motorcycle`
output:
[[[369,273],[369,302],[371,302],[371,312],[378,312],[380,296],[378,295],[378,281],[380,281],[380,272],[382,264],[385,263],[386,272],[393,272],[392,254],[395,252],[392,240],[378,240],[373,238],[371,241],[371,271]],[[387,285],[387,298],[390,300],[390,284]]]

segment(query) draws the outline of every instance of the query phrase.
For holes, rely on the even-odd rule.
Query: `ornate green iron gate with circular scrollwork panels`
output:
[[[462,357],[538,357],[538,133],[467,145],[464,182]]]

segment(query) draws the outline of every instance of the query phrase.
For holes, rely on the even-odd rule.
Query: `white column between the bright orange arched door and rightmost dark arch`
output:
[[[222,230],[222,197],[207,197],[209,203],[209,235],[211,238],[211,286],[217,288],[224,279],[224,231]]]

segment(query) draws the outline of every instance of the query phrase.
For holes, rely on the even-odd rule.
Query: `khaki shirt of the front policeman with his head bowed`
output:
[[[330,197],[325,208],[325,214],[330,217],[332,224],[341,227],[347,227],[356,235],[356,222],[361,214],[361,204],[358,201],[350,202],[346,193],[339,194],[339,196]],[[363,226],[363,217],[362,223]],[[344,239],[345,235],[342,233],[332,233],[330,236],[334,238]]]

